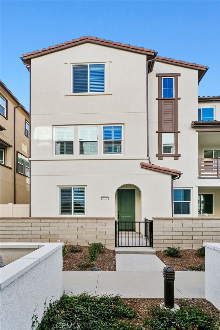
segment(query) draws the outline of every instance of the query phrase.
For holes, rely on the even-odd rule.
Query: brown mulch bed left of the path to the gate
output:
[[[81,246],[80,252],[69,251],[63,258],[63,270],[79,270],[79,271],[91,271],[91,267],[99,267],[100,271],[116,271],[115,265],[115,252],[105,248],[103,252],[100,252],[97,260],[89,268],[80,269],[79,264],[85,261],[88,262],[86,255],[87,247]]]

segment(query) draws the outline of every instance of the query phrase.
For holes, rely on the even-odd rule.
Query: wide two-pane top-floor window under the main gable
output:
[[[72,92],[105,92],[105,64],[73,65]]]

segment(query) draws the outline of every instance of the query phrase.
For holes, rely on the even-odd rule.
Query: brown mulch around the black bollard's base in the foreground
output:
[[[124,303],[127,303],[131,307],[133,307],[137,311],[137,315],[139,317],[146,317],[150,316],[150,309],[153,305],[160,306],[164,299],[128,299],[122,298]],[[212,316],[217,316],[217,320],[219,320],[220,324],[220,311],[215,308],[209,301],[206,299],[175,299],[175,304],[178,306],[182,306],[183,302],[190,304],[191,306],[198,307],[202,309],[204,312],[210,313]],[[129,321],[129,320],[128,320]],[[140,319],[136,321],[133,319],[132,322],[136,322],[136,326],[140,324]],[[132,323],[134,324],[134,323]]]

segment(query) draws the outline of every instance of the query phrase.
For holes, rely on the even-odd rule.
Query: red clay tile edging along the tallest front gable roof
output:
[[[80,37],[78,39],[73,39],[73,40],[70,40],[70,41],[65,41],[63,44],[57,44],[56,46],[49,46],[48,48],[43,48],[43,49],[40,49],[40,50],[34,50],[33,52],[30,52],[30,53],[26,53],[26,54],[22,54],[23,57],[27,57],[27,56],[30,56],[30,55],[35,55],[35,54],[38,54],[38,53],[42,53],[42,52],[46,52],[50,49],[53,49],[53,48],[59,48],[59,47],[64,47],[68,44],[75,44],[75,43],[79,43],[80,41],[90,41],[90,42],[99,42],[99,43],[103,43],[103,44],[111,44],[111,45],[115,45],[115,46],[120,46],[121,48],[129,48],[130,50],[132,49],[136,49],[136,50],[142,50],[144,52],[151,52],[151,53],[154,53],[155,50],[152,50],[152,49],[146,49],[144,47],[137,47],[137,46],[130,46],[128,44],[122,44],[120,42],[114,42],[112,40],[105,40],[105,39],[99,39],[99,38],[96,38],[96,37],[89,37],[89,36],[85,36],[85,37]]]

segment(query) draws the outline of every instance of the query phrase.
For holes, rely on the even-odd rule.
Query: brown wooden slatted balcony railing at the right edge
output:
[[[199,158],[199,177],[220,177],[220,158]]]

